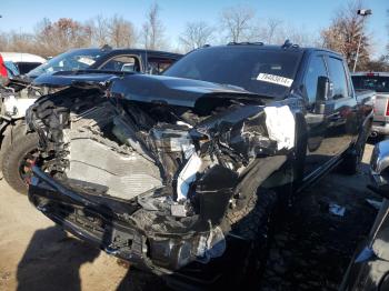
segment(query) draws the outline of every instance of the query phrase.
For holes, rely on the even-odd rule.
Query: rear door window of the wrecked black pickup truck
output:
[[[346,78],[343,61],[336,58],[328,58],[328,69],[332,82],[332,98],[340,99],[349,97],[349,88]]]

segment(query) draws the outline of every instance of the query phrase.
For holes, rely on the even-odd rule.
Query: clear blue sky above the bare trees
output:
[[[122,16],[140,28],[144,13],[153,0],[0,0],[0,31],[31,32],[42,18],[56,21],[72,18],[84,21],[97,14]],[[256,9],[259,19],[277,18],[286,26],[292,26],[307,33],[318,33],[327,27],[336,10],[346,0],[158,0],[166,34],[171,47],[177,46],[179,33],[187,21],[203,20],[216,23],[220,11],[226,7],[248,4]],[[372,9],[367,22],[368,32],[373,37],[375,56],[385,52],[389,42],[386,26],[389,17],[389,0],[365,0],[365,7]]]

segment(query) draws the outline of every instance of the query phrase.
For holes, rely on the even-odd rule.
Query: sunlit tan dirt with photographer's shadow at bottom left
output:
[[[116,290],[128,269],[0,182],[0,290]]]

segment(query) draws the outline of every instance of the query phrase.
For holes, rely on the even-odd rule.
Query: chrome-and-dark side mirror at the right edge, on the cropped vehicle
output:
[[[389,140],[375,146],[370,159],[370,175],[372,184],[368,188],[389,199]]]

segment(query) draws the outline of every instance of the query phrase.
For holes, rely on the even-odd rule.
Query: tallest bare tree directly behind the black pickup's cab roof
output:
[[[250,39],[255,16],[256,11],[246,6],[236,6],[223,9],[220,22],[221,29],[226,31],[228,40],[240,42]]]

